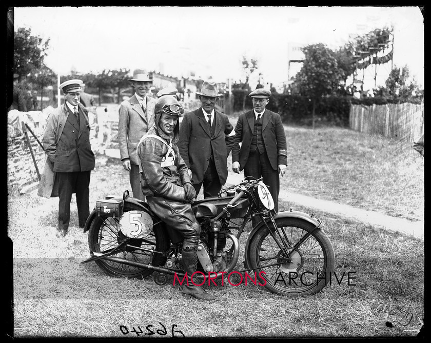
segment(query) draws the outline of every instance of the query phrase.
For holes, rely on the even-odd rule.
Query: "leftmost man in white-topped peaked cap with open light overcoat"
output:
[[[81,228],[90,214],[90,173],[95,158],[90,146],[88,112],[80,103],[81,84],[81,80],[73,79],[60,85],[65,102],[49,115],[42,138],[48,158],[38,195],[59,198],[57,237],[68,232],[72,193],[76,193]]]

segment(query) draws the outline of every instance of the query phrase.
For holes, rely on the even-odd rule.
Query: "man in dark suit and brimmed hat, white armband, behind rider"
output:
[[[204,197],[217,196],[227,179],[227,156],[234,143],[234,130],[226,114],[215,111],[217,84],[205,81],[196,92],[202,106],[184,115],[178,148],[191,170],[196,194],[204,186]]]

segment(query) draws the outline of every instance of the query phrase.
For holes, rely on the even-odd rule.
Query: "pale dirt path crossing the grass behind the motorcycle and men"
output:
[[[110,157],[120,158],[120,152],[118,149],[106,150],[105,154]],[[229,170],[227,183],[229,185],[238,184],[243,180],[243,178],[243,172],[236,174]],[[280,190],[279,198],[287,201],[288,204],[300,204],[323,212],[340,215],[345,218],[356,219],[363,223],[382,227],[386,230],[399,231],[414,237],[424,238],[423,220],[409,221],[407,219],[392,217],[374,211],[362,210],[348,205],[337,204],[328,200],[321,200],[298,193],[288,192],[284,189]]]

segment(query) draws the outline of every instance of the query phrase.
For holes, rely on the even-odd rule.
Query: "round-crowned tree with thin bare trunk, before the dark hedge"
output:
[[[300,95],[312,102],[312,126],[315,127],[316,104],[323,96],[336,94],[344,89],[346,75],[339,67],[337,56],[324,44],[312,44],[301,48],[304,62],[294,84]]]

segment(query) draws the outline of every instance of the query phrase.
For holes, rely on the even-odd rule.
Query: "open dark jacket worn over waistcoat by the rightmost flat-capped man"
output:
[[[254,111],[240,114],[235,126],[235,142],[232,147],[232,163],[238,161],[240,170],[243,170],[247,163],[253,131]],[[278,165],[287,165],[286,134],[280,114],[265,109],[262,119],[262,138],[272,169],[277,170]]]

